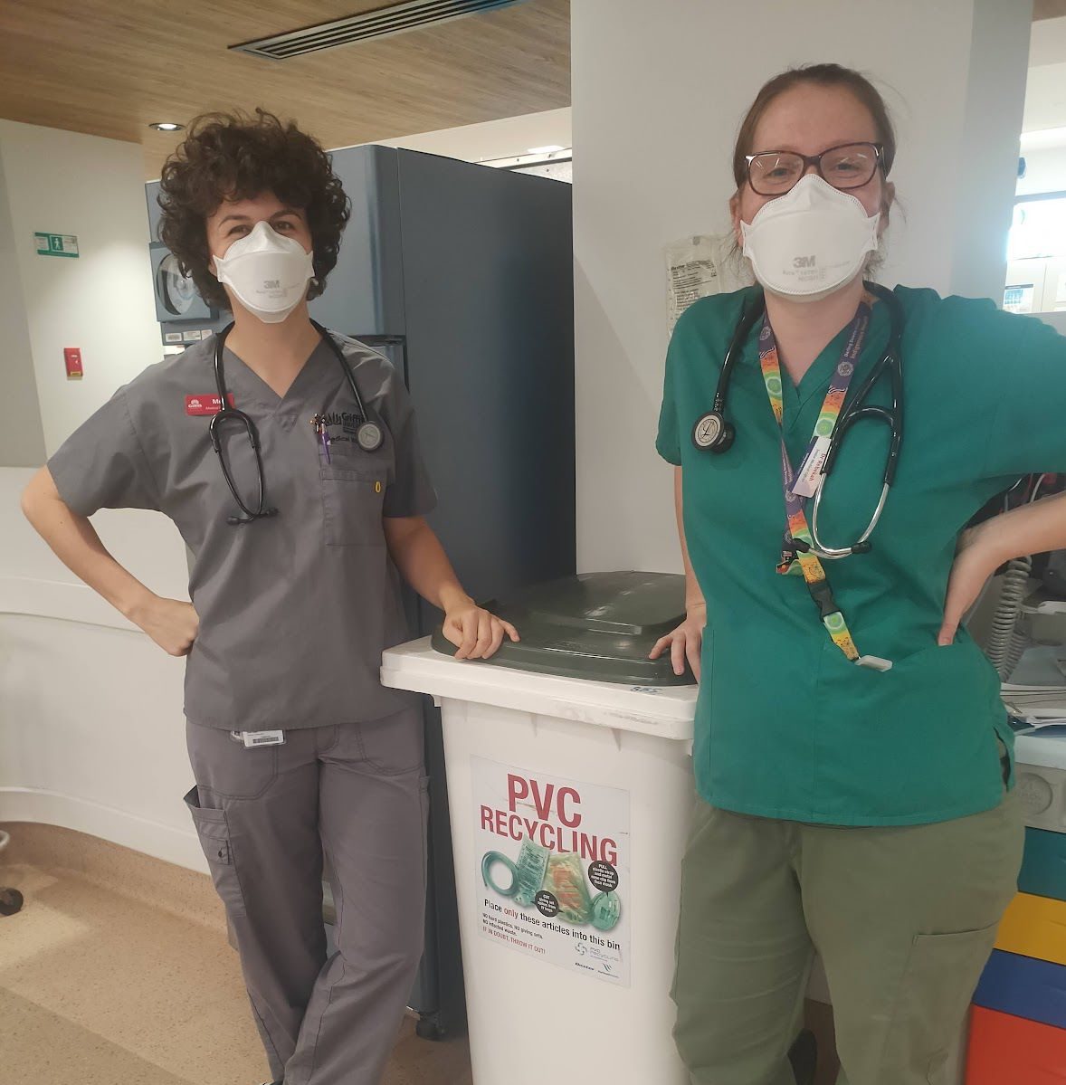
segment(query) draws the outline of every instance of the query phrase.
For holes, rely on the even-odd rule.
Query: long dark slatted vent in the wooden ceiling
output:
[[[420,30],[427,26],[437,26],[455,18],[477,15],[496,8],[510,8],[521,0],[409,0],[408,3],[390,4],[361,15],[338,18],[332,23],[319,23],[290,34],[276,34],[257,41],[245,41],[230,49],[266,56],[274,61],[289,60],[291,56],[306,56],[322,49],[337,46],[355,46],[360,41],[388,38],[394,34]]]

